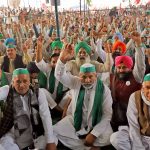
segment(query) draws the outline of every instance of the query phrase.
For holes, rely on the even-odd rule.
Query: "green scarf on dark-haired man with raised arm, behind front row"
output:
[[[51,73],[50,73],[50,77],[49,77],[49,92],[51,94],[53,94],[54,89],[55,89],[56,79],[55,79],[54,73],[55,73],[55,68],[52,68]],[[56,101],[57,101],[57,103],[60,102],[60,100],[62,98],[62,95],[63,95],[63,84],[59,82],[58,86],[57,86],[57,91],[56,91]]]

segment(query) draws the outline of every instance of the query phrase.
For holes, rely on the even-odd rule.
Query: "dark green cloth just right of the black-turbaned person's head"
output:
[[[45,74],[44,74],[43,72],[41,72],[41,71],[40,71],[40,73],[38,74],[38,82],[39,82],[40,88],[45,88],[45,89],[46,89],[47,77],[46,77]]]

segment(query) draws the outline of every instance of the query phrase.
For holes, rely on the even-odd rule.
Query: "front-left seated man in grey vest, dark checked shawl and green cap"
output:
[[[0,96],[6,99],[4,117],[0,122],[0,146],[3,149],[56,149],[45,94],[41,89],[36,92],[30,88],[27,69],[14,70],[12,87],[7,86]]]

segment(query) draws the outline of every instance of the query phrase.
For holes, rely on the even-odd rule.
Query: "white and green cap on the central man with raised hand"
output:
[[[81,73],[96,72],[95,66],[90,63],[85,63],[80,67]]]

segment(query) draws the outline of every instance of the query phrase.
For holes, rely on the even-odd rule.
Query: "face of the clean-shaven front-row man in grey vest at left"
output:
[[[26,94],[30,86],[29,74],[20,74],[13,77],[12,86],[15,88],[17,93],[21,95]]]

